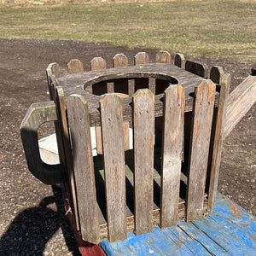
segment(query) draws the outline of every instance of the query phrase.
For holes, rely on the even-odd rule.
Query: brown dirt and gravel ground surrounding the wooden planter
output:
[[[102,56],[111,67],[117,53],[130,64],[138,51],[154,61],[156,50],[127,49],[70,41],[0,40],[0,255],[79,255],[61,192],[40,183],[27,170],[20,141],[20,123],[33,102],[48,101],[45,68],[50,62],[66,67],[78,58],[89,70]],[[250,73],[250,66],[231,59],[200,59],[231,73],[233,90]],[[256,215],[256,149],[253,108],[224,141],[218,191]]]

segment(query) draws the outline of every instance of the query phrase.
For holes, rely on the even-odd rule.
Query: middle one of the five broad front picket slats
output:
[[[154,95],[138,90],[133,96],[135,231],[152,231],[154,169]]]

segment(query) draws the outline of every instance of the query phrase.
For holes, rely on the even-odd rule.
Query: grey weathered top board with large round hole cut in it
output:
[[[199,85],[203,80],[201,77],[186,72],[185,70],[176,67],[172,64],[147,64],[142,66],[109,68],[102,71],[92,71],[74,74],[66,74],[58,78],[57,82],[62,86],[65,97],[79,93],[83,95],[89,104],[90,111],[90,125],[100,125],[99,113],[99,96],[93,96],[90,93],[91,84],[98,83],[103,80],[123,79],[127,78],[153,78],[166,79],[172,84],[182,84],[185,93],[185,112],[192,110],[193,95],[195,86]],[[84,85],[85,84],[85,85]],[[85,86],[85,90],[83,87]],[[163,101],[161,100],[163,94],[155,96],[155,116],[161,116],[163,113]],[[132,109],[131,97],[123,101],[124,120],[131,122]],[[216,106],[218,106],[218,92],[216,92]]]

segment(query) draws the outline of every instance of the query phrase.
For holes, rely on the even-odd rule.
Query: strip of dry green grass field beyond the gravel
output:
[[[82,40],[256,58],[256,1],[0,6],[0,38]]]

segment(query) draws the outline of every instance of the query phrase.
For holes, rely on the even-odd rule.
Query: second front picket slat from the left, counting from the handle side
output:
[[[108,239],[126,238],[125,150],[122,102],[109,94],[101,101],[102,143],[106,186]]]

